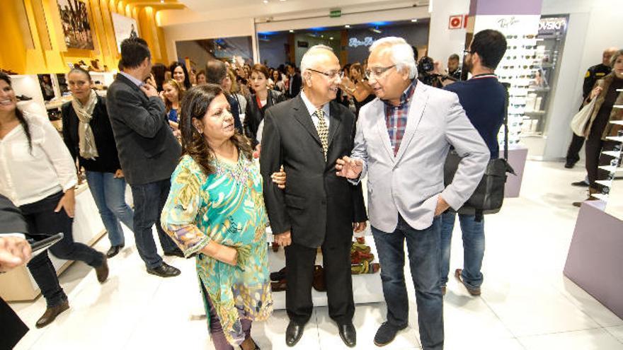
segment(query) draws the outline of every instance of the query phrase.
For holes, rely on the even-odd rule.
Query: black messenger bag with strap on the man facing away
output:
[[[482,221],[484,214],[495,214],[500,211],[504,202],[506,173],[517,175],[508,163],[508,83],[503,83],[503,85],[506,95],[504,103],[504,158],[489,160],[474,193],[457,211],[459,214],[475,215],[476,222]],[[456,151],[451,150],[448,153],[444,165],[445,186],[452,183],[460,161],[461,158]]]

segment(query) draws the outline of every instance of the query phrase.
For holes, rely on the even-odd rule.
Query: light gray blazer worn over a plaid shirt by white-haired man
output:
[[[351,154],[364,163],[360,179],[367,174],[370,225],[394,232],[400,214],[409,226],[423,230],[433,224],[439,195],[453,209],[469,199],[491,153],[455,93],[418,81],[395,157],[384,108],[378,98],[361,108]],[[443,166],[450,146],[462,160],[452,184],[444,189]]]

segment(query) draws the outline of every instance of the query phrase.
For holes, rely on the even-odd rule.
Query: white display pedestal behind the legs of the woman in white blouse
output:
[[[76,189],[76,213],[72,230],[74,241],[94,245],[106,231],[88,185]],[[49,254],[57,274],[64,272],[73,261],[58,259]],[[40,290],[25,266],[0,274],[0,296],[5,301],[32,301]]]

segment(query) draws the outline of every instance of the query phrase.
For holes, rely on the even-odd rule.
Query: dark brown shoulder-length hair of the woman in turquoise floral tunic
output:
[[[200,134],[193,119],[202,120],[205,117],[210,103],[219,95],[224,95],[223,88],[217,84],[208,83],[205,85],[195,86],[184,93],[180,112],[180,130],[182,133],[182,154],[188,154],[198,163],[205,175],[215,173],[216,169],[212,162],[216,159],[215,153],[207,144],[205,136]],[[245,136],[239,134],[236,130],[232,136],[232,142],[238,148],[242,155],[251,160],[252,151],[251,144]]]

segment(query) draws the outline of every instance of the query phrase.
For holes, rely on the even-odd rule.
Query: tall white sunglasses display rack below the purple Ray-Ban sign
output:
[[[536,98],[531,98],[530,87],[539,68],[536,34],[507,34],[506,52],[496,74],[502,83],[509,83],[508,89],[508,144],[519,143],[525,133],[527,112],[532,112]],[[504,141],[504,130],[498,134],[500,144]]]

